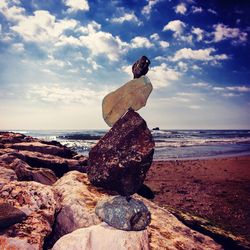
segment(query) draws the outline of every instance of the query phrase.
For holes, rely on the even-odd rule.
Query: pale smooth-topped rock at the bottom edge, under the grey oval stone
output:
[[[63,236],[56,242],[53,250],[148,250],[148,233],[125,232],[116,230],[106,223],[81,228],[71,234]]]

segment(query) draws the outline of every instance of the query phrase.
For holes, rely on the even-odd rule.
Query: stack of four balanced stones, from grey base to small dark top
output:
[[[130,195],[142,186],[154,154],[154,140],[143,118],[135,112],[146,105],[153,89],[145,74],[150,61],[142,56],[132,67],[134,79],[104,97],[103,118],[112,127],[89,152],[88,178],[98,187],[120,195],[100,201],[97,215],[110,226],[143,230],[150,212]]]

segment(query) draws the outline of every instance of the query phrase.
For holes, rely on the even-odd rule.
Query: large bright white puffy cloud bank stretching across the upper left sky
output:
[[[111,33],[101,31],[101,25],[94,21],[79,27],[79,23],[74,19],[56,20],[55,16],[44,10],[35,11],[34,16],[24,17],[11,29],[25,41],[86,47],[92,55],[104,54],[112,61],[117,61],[120,54],[128,49],[127,43],[122,42],[118,36],[114,37]],[[81,32],[83,35],[67,36],[66,30]]]

